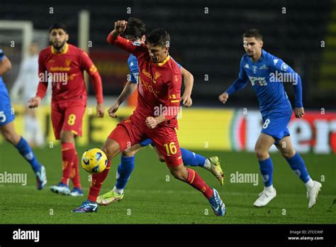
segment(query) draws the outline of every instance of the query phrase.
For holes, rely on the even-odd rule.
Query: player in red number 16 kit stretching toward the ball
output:
[[[155,29],[147,36],[145,44],[133,43],[120,36],[126,29],[126,21],[116,21],[114,30],[108,35],[108,43],[132,53],[138,58],[139,94],[134,113],[118,124],[112,131],[102,150],[108,157],[108,165],[103,172],[92,176],[88,199],[72,212],[96,212],[96,198],[111,167],[111,160],[120,152],[151,138],[172,175],[189,183],[208,199],[216,215],[225,214],[225,205],[218,192],[206,185],[195,170],[185,168],[175,127],[181,92],[181,70],[168,54],[169,34],[164,29]],[[155,116],[157,107],[166,109]]]

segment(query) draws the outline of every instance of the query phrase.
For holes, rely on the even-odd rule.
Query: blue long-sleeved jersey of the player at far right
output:
[[[242,56],[239,77],[226,92],[233,94],[250,81],[264,116],[269,111],[291,107],[283,84],[286,80],[293,84],[296,107],[303,107],[300,76],[283,60],[262,50],[262,57],[257,62],[253,62],[248,55]]]

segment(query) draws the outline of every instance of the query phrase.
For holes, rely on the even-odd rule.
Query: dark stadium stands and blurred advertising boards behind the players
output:
[[[206,4],[199,0],[192,2],[146,0],[141,1],[141,4],[138,1],[116,1],[113,4],[95,1],[94,6],[91,5],[91,1],[82,1],[80,5],[67,1],[57,1],[57,4],[4,1],[0,9],[0,19],[32,21],[34,30],[40,33],[46,31],[51,23],[62,21],[69,28],[69,43],[80,46],[79,12],[88,10],[89,42],[82,45],[82,48],[88,51],[101,73],[106,106],[121,92],[130,73],[125,62],[128,54],[106,43],[106,35],[111,31],[113,22],[116,19],[136,16],[147,24],[147,31],[157,27],[166,28],[172,37],[171,55],[191,71],[195,79],[192,94],[194,108],[183,109],[184,116],[187,114],[189,117],[182,117],[180,120],[181,132],[184,132],[184,135],[180,135],[181,144],[186,148],[220,150],[252,150],[251,147],[248,148],[249,143],[251,146],[257,138],[255,135],[249,136],[249,125],[245,124],[248,114],[241,116],[246,111],[255,114],[253,110],[258,110],[252,87],[246,87],[230,97],[225,106],[218,101],[218,95],[237,78],[240,57],[244,54],[242,33],[247,28],[259,28],[264,35],[264,49],[281,57],[301,75],[303,104],[308,114],[309,110],[315,110],[308,123],[305,121],[294,124],[291,131],[297,137],[293,138],[298,139],[296,141],[298,144],[302,141],[310,143],[309,148],[303,148],[303,151],[315,151],[316,148],[313,147],[318,139],[316,135],[320,133],[320,139],[329,138],[329,140],[325,144],[321,139],[322,143],[318,142],[318,145],[324,147],[318,148],[317,152],[329,153],[336,150],[335,124],[332,122],[335,121],[335,112],[332,110],[335,109],[336,94],[335,6],[335,1],[255,3],[239,0],[207,1]],[[47,44],[46,36],[39,35],[35,37],[36,39],[42,47]],[[18,72],[21,48],[13,49],[5,45],[3,49],[14,61],[13,69],[4,77],[11,89]],[[291,84],[285,84],[285,87],[293,102]],[[89,92],[93,94],[90,83]],[[94,99],[89,100],[89,106],[94,106]],[[204,111],[195,110],[196,107],[229,109],[228,111],[206,109],[215,116],[213,118],[203,115]],[[15,109],[16,116],[19,117],[20,107],[16,106]],[[320,116],[319,111],[323,113]],[[42,121],[47,121],[44,115],[40,117],[43,118]],[[315,120],[323,123],[316,126]],[[327,123],[324,123],[325,121]],[[102,142],[115,125],[108,118],[103,122],[107,127],[104,128],[103,134],[99,135],[101,138],[97,138],[91,134],[92,125],[89,121],[87,123],[89,131],[84,131],[82,143],[87,145],[89,141]],[[111,123],[109,127],[108,122]],[[24,131],[20,123],[18,120],[18,128]],[[250,124],[252,126],[250,132],[258,132],[260,124],[260,118],[254,118],[254,124]],[[48,140],[52,141],[50,122],[44,126],[45,136],[49,136]],[[228,129],[230,130],[225,131]],[[218,134],[211,133],[211,130],[221,131]],[[325,145],[328,148],[325,148]]]

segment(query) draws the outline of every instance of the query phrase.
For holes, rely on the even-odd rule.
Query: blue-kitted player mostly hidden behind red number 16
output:
[[[130,17],[128,18],[127,28],[123,33],[123,37],[131,40],[132,42],[144,44],[146,38],[145,32],[145,23],[143,23],[138,18]],[[184,79],[184,94],[181,97],[181,101],[184,106],[189,107],[192,104],[191,91],[194,84],[194,77],[188,70],[184,69],[184,67],[181,67],[179,63],[177,63],[177,66],[180,68],[181,75]],[[130,68],[130,80],[126,83],[123,92],[121,92],[121,95],[118,97],[113,106],[108,109],[109,115],[113,118],[117,116],[116,112],[118,111],[119,106],[123,103],[123,101],[133,94],[133,92],[135,92],[138,87],[138,60],[133,54],[130,54],[130,57],[128,57],[128,67]],[[125,194],[125,186],[130,179],[130,174],[132,173],[135,165],[135,154],[150,144],[153,146],[153,148],[155,148],[159,160],[164,162],[164,157],[159,153],[159,150],[152,144],[152,140],[149,138],[133,145],[130,148],[127,148],[126,150],[123,150],[121,154],[121,163],[118,165],[116,184],[114,185],[113,190],[97,197],[96,202],[99,205],[108,205],[112,202],[118,202],[123,199]],[[224,173],[222,168],[220,168],[220,160],[217,156],[205,158],[202,155],[198,155],[197,153],[191,152],[184,148],[180,149],[184,165],[205,168],[206,170],[209,170],[213,173],[213,175],[219,180],[220,185],[224,184]]]

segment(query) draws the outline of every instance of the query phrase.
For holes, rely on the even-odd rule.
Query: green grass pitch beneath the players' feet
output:
[[[96,145],[101,146],[101,145]],[[86,147],[88,148],[88,147]],[[86,148],[77,149],[82,155]],[[225,202],[227,213],[215,216],[205,197],[184,182],[175,180],[164,163],[157,160],[152,148],[141,150],[135,158],[135,170],[125,189],[121,202],[99,207],[94,214],[74,214],[89,192],[88,175],[80,174],[84,197],[69,197],[50,192],[50,185],[60,181],[60,146],[35,148],[35,155],[47,170],[47,187],[38,191],[30,166],[9,143],[0,144],[0,173],[27,173],[26,186],[0,184],[2,224],[335,224],[336,223],[336,158],[335,155],[302,155],[310,175],[321,180],[323,188],[318,203],[308,209],[306,187],[296,177],[279,153],[271,154],[274,161],[274,187],[276,198],[264,208],[254,208],[253,202],[262,191],[259,165],[253,153],[207,152],[201,155],[218,155],[225,170],[225,185],[203,168],[196,168],[208,185],[215,187]],[[101,192],[113,188],[117,156]],[[230,175],[258,173],[259,185],[230,182]],[[167,182],[169,180],[169,182]],[[208,212],[208,214],[206,214]]]

